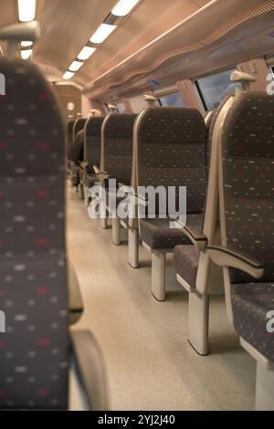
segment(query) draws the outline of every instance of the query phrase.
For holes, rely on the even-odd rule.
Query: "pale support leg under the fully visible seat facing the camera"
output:
[[[158,301],[165,300],[165,253],[152,253],[152,293]]]

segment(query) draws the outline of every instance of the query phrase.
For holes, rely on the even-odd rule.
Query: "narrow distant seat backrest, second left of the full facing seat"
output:
[[[103,116],[91,116],[85,125],[84,161],[89,162],[88,171],[93,172],[93,165],[100,166],[101,127]]]

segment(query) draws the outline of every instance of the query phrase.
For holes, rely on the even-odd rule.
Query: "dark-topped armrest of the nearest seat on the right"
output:
[[[252,277],[260,278],[264,274],[263,264],[255,257],[227,247],[208,246],[206,254],[220,267],[237,268]]]

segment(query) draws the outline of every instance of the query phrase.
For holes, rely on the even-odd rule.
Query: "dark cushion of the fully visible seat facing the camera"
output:
[[[203,214],[187,214],[187,223],[202,227]],[[178,245],[190,245],[190,240],[180,229],[170,228],[170,219],[141,219],[140,235],[142,241],[152,249],[174,249]]]

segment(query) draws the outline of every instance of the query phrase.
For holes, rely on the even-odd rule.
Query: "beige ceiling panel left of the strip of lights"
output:
[[[42,37],[35,55],[63,74],[117,0],[38,0]]]

